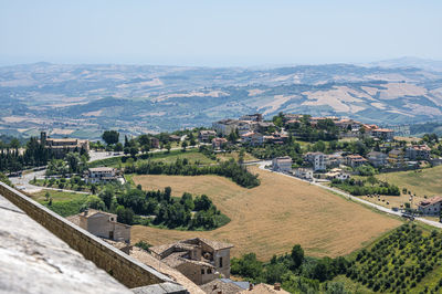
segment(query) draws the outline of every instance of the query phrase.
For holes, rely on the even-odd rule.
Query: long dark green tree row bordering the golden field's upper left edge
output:
[[[232,179],[238,185],[245,188],[254,188],[260,186],[257,175],[252,175],[248,169],[233,159],[223,161],[213,166],[191,165],[188,160],[178,158],[173,164],[165,164],[162,161],[148,161],[133,166],[134,170],[127,167],[126,172],[137,172],[138,175],[181,175],[181,176],[200,176],[200,175],[218,175]]]

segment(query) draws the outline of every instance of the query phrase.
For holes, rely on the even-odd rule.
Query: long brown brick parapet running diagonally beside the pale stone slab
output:
[[[0,182],[0,195],[127,287],[175,283],[3,182]]]

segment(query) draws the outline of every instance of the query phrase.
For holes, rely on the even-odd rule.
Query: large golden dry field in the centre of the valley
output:
[[[315,256],[348,254],[372,241],[400,221],[347,201],[320,188],[251,167],[261,186],[241,188],[217,176],[136,176],[144,189],[172,187],[182,192],[206,193],[231,222],[213,231],[191,232],[135,225],[133,243],[158,245],[203,237],[233,243],[234,256],[255,252],[261,260],[288,252],[296,243]]]

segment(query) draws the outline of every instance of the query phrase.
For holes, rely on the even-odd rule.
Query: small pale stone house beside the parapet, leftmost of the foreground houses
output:
[[[96,237],[130,243],[130,225],[117,222],[117,214],[88,209],[67,219]]]

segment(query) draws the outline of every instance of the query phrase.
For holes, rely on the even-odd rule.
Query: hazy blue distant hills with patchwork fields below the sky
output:
[[[0,67],[0,133],[96,138],[280,112],[380,125],[442,118],[442,62],[269,69],[35,63]]]

